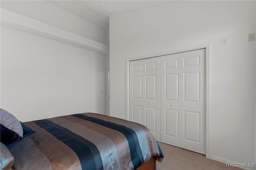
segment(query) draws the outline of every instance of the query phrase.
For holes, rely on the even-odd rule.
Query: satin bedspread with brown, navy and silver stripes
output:
[[[136,170],[164,158],[146,127],[123,119],[82,113],[24,124],[36,132],[7,145],[14,170]]]

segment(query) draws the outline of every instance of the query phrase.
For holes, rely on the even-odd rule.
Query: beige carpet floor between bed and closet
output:
[[[157,170],[241,170],[206,158],[202,154],[158,142],[164,153],[162,162],[156,161]]]

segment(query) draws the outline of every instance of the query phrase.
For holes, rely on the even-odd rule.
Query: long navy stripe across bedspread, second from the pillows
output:
[[[118,125],[116,123],[103,121],[102,119],[88,117],[88,116],[82,115],[82,114],[75,114],[75,115],[71,115],[71,116],[74,116],[74,117],[77,117],[80,119],[84,119],[86,121],[90,121],[90,122],[96,123],[98,125],[102,125],[104,127],[108,127],[108,128],[111,128],[111,129],[121,132],[122,134],[124,134],[124,136],[126,137],[126,139],[128,141],[132,164],[134,166],[134,169],[136,170],[139,166],[141,166],[144,163],[144,158],[143,158],[140,144],[138,141],[138,136],[137,136],[136,132],[134,132],[134,130],[127,128],[125,126],[122,126],[122,125]]]

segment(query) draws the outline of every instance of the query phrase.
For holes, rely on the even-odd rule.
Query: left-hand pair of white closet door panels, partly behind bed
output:
[[[160,57],[130,61],[130,121],[160,141]]]

